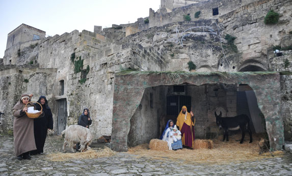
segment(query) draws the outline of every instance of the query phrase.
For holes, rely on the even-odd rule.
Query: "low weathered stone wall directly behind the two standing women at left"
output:
[[[0,111],[2,115],[0,130],[13,134],[12,108],[20,99],[22,93],[34,94],[32,100],[37,101],[40,95],[45,95],[50,107],[55,106],[54,91],[56,69],[35,68],[35,69],[6,69],[0,72],[1,94]],[[56,114],[53,112],[53,117]]]

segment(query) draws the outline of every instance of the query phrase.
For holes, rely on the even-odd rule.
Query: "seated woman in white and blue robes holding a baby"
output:
[[[173,138],[170,136],[170,132],[173,130],[173,125],[173,120],[167,122],[161,138],[167,142],[169,150],[182,149],[181,139],[174,142]],[[177,135],[177,133],[174,133],[174,135]]]

